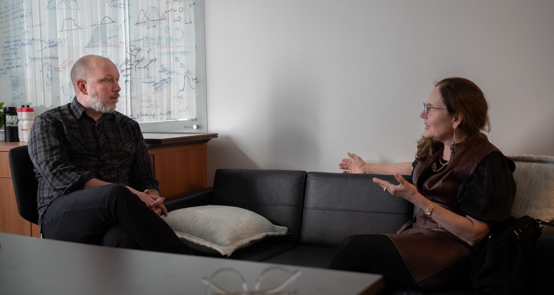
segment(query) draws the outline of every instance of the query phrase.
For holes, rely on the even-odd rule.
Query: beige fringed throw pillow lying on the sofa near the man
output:
[[[288,230],[252,211],[231,206],[178,209],[162,218],[191,249],[226,256],[264,237],[285,235]]]

